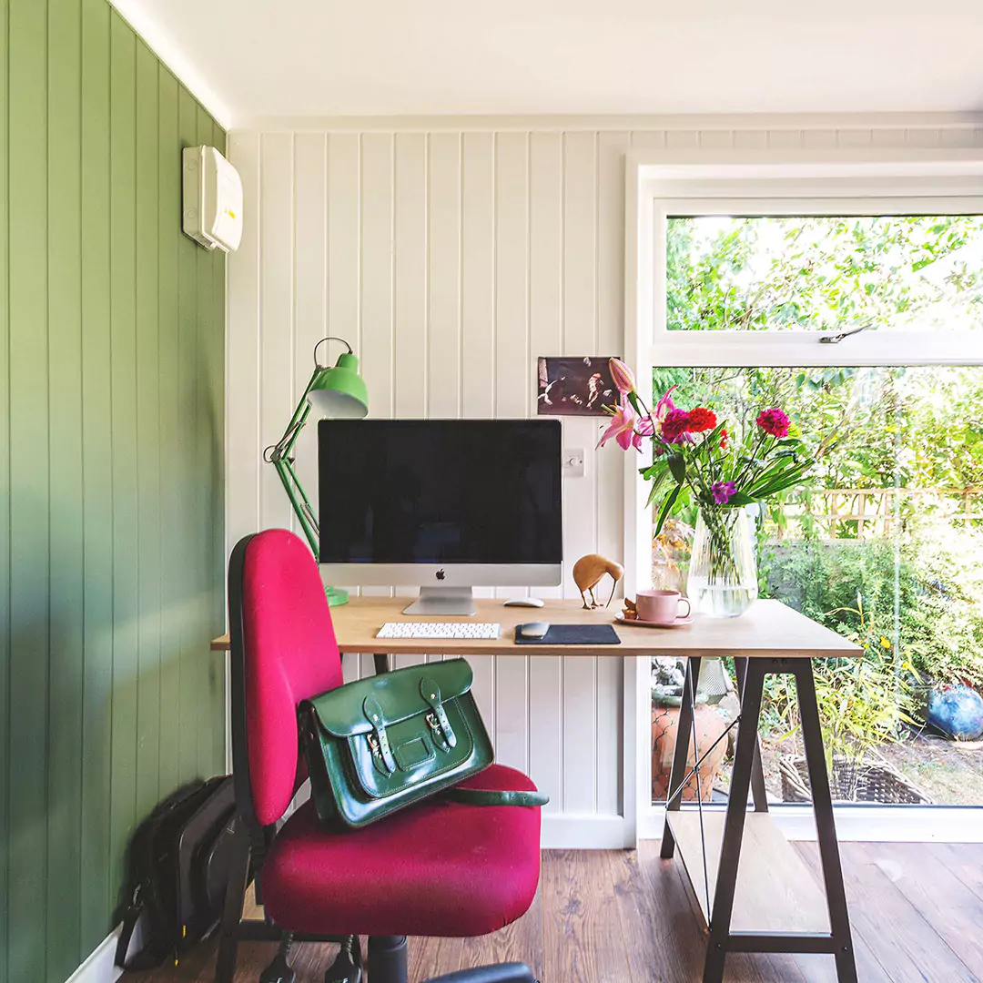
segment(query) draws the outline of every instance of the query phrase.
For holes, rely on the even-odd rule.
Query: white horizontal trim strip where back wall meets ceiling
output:
[[[117,2],[117,0],[112,0]],[[118,0],[117,6],[134,0]],[[983,113],[735,113],[662,115],[565,116],[250,116],[235,120],[236,130],[260,133],[358,132],[460,133],[489,130],[562,132],[726,132],[768,130],[975,130],[983,128]],[[917,143],[919,134],[913,133]]]

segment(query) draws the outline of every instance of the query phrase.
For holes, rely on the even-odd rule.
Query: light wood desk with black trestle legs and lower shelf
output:
[[[545,607],[502,607],[478,602],[477,621],[501,625],[499,638],[376,639],[386,621],[459,621],[460,617],[407,617],[407,598],[360,598],[331,608],[342,653],[373,653],[376,671],[392,655],[443,656],[623,656],[660,654],[687,658],[685,697],[676,728],[662,855],[678,848],[710,934],[704,983],[721,983],[728,952],[829,953],[836,956],[839,983],[856,983],[853,944],[843,892],[830,783],[823,753],[812,674],[814,658],[856,658],[862,651],[828,628],[778,601],[758,601],[737,618],[697,616],[678,628],[640,628],[615,623],[620,645],[516,645],[515,626],[524,621],[611,624],[617,607],[585,610],[579,601],[548,601]],[[228,636],[212,649],[229,647]],[[381,650],[381,651],[380,651]],[[681,791],[699,772],[706,749],[689,754],[696,680],[704,658],[731,656],[737,669],[741,712],[725,813],[681,805]],[[798,854],[768,815],[758,745],[765,677],[791,674],[796,681],[802,737],[812,784],[826,897]],[[690,765],[695,761],[695,766]],[[754,812],[747,811],[749,793]],[[743,838],[749,849],[741,853]],[[739,874],[738,874],[739,863]]]

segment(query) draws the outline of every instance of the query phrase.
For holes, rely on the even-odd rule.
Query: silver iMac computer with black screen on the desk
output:
[[[419,586],[414,614],[474,614],[472,588],[560,583],[558,420],[322,420],[326,583]]]

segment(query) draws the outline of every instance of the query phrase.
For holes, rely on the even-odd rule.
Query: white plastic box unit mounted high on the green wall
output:
[[[186,146],[185,235],[205,249],[235,252],[243,235],[243,185],[239,172],[213,146]]]

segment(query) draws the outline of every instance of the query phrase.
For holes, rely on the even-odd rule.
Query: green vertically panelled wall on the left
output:
[[[135,824],[224,761],[225,134],[106,0],[0,0],[0,983],[114,924]]]

